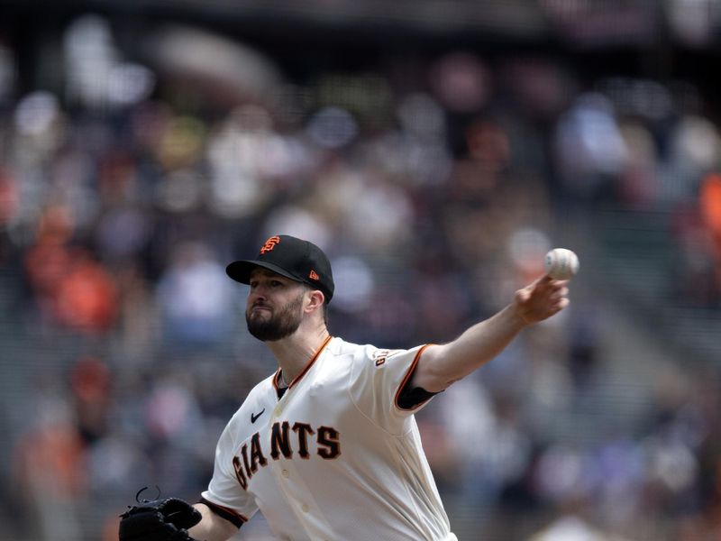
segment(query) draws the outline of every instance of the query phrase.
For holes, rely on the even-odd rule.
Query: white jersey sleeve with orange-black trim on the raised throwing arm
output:
[[[383,350],[368,347],[356,355],[351,371],[351,399],[379,426],[390,432],[404,430],[405,420],[423,408],[430,393],[409,404],[402,397],[426,345],[409,350]]]

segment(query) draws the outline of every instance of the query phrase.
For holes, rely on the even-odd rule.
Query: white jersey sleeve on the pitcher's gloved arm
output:
[[[251,494],[243,490],[235,476],[233,468],[235,445],[232,436],[234,419],[235,417],[225,426],[223,434],[218,439],[213,477],[201,496],[219,508],[236,514],[242,522],[247,522],[258,510],[258,505]]]

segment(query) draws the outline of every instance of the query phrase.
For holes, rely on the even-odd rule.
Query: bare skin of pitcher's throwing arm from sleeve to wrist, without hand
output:
[[[413,385],[431,392],[448,388],[501,353],[526,325],[516,307],[508,305],[452,342],[427,348],[418,361]]]

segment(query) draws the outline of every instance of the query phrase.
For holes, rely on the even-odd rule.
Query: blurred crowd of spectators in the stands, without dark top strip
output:
[[[505,306],[601,207],[671,216],[665,298],[719,307],[719,119],[693,81],[472,50],[292,79],[207,33],[158,50],[183,32],[196,64],[146,66],[80,17],[52,50],[62,84],[22,94],[0,44],[1,317],[28,352],[67,348],[18,383],[14,538],[113,539],[142,487],[204,490],[224,423],[274,370],[224,274],[270,234],[323,247],[331,332],[383,347]],[[218,76],[228,59],[241,80]],[[462,501],[479,539],[717,538],[718,381],[686,374],[623,429],[583,417],[612,332],[587,286],[419,415],[449,513]]]

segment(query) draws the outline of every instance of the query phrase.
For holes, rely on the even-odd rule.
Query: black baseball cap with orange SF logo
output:
[[[289,234],[271,236],[260,247],[257,259],[233,261],[225,268],[225,272],[233,280],[247,284],[251,280],[251,271],[256,267],[278,272],[290,280],[320,289],[326,303],[333,298],[335,285],[331,262],[314,243]]]

